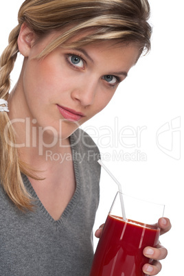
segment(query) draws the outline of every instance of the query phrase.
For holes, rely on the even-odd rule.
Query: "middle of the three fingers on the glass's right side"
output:
[[[168,255],[168,250],[158,244],[157,248],[147,246],[143,249],[143,255],[153,260],[163,260]]]

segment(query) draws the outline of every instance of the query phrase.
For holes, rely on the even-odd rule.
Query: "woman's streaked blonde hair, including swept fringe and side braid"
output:
[[[26,23],[42,38],[53,30],[65,30],[51,41],[38,58],[62,47],[79,47],[99,41],[137,43],[140,54],[150,50],[151,27],[148,24],[150,6],[147,0],[26,0],[19,10],[17,25],[9,36],[9,45],[0,60],[0,98],[8,100],[10,73],[19,52],[17,38],[21,25]],[[91,30],[74,43],[78,34]],[[16,137],[6,112],[0,112],[0,176],[1,185],[12,202],[21,210],[32,209],[21,173],[33,176],[33,171],[21,162],[15,144]],[[4,133],[5,126],[8,131]],[[7,130],[7,128],[6,128]],[[7,135],[5,137],[5,135]]]

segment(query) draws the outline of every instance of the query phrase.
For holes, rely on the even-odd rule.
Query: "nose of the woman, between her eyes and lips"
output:
[[[78,82],[71,92],[73,100],[80,102],[82,106],[89,106],[93,104],[95,100],[95,94],[97,93],[97,81],[95,80],[83,80]]]

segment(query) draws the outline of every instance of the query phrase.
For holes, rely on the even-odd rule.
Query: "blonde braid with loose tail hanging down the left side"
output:
[[[19,48],[17,38],[20,26],[12,30],[9,36],[9,45],[3,51],[0,59],[0,98],[8,100],[10,91],[10,73],[14,68]],[[6,112],[0,113],[0,176],[3,189],[19,209],[31,209],[30,197],[23,185],[21,170],[23,164],[14,146],[16,143],[14,129]]]

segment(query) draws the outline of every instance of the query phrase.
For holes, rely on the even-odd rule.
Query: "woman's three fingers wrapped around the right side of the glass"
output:
[[[171,229],[170,220],[168,218],[160,218],[158,226],[161,229],[161,235],[163,235]],[[161,271],[159,260],[165,259],[168,251],[159,243],[157,248],[148,246],[143,249],[143,255],[153,260],[152,264],[145,264],[143,266],[143,273],[146,273],[146,275],[157,275]]]

